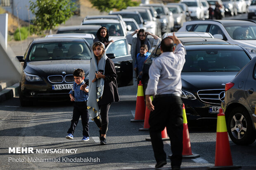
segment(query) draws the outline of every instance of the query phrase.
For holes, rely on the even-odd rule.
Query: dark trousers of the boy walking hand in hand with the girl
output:
[[[81,116],[81,121],[83,125],[83,136],[89,137],[89,113],[87,109],[87,102],[74,102],[73,106],[73,117],[71,120],[71,125],[67,133],[71,133],[73,135],[76,125],[78,124],[79,118]]]

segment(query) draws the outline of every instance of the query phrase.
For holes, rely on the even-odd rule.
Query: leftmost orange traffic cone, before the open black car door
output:
[[[136,101],[136,109],[135,109],[135,117],[134,119],[130,119],[130,122],[143,122],[145,117],[145,98],[143,93],[143,86],[140,83],[138,84],[137,91],[137,101]]]

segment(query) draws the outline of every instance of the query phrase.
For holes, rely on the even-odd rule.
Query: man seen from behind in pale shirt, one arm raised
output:
[[[177,44],[176,50],[174,44]],[[173,153],[171,168],[180,170],[183,150],[181,71],[185,64],[186,51],[175,33],[162,40],[160,49],[161,55],[149,67],[149,81],[145,92],[146,105],[151,111],[149,134],[156,159],[155,168],[161,168],[167,163],[161,136],[161,131],[166,127]],[[154,97],[153,102],[150,96]]]

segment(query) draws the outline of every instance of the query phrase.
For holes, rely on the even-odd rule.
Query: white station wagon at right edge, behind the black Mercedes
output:
[[[251,55],[256,56],[256,22],[243,20],[205,20],[187,21],[182,31],[210,32],[213,37],[223,39],[230,44],[243,46]]]

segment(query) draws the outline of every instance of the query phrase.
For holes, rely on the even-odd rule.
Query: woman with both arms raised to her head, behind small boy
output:
[[[136,33],[137,33],[137,37],[133,37],[133,35]],[[147,37],[148,35],[151,35],[152,37]],[[161,38],[157,37],[156,35],[150,32],[145,32],[145,30],[143,29],[135,30],[132,34],[127,35],[126,39],[128,43],[131,45],[130,53],[133,58],[133,66],[134,66],[134,63],[136,62],[136,55],[140,53],[140,46],[142,44],[146,44],[148,48],[148,52],[151,53],[152,47],[156,46],[161,41]]]

